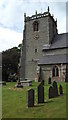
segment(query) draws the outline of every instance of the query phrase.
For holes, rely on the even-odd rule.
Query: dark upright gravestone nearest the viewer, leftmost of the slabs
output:
[[[34,90],[27,91],[27,107],[34,107]]]

